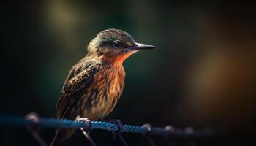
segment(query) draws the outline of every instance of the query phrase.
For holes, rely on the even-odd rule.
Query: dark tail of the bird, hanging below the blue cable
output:
[[[50,146],[64,145],[64,141],[75,133],[75,129],[58,129]]]

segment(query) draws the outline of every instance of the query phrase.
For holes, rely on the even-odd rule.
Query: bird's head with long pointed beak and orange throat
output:
[[[91,40],[88,55],[97,55],[112,63],[122,63],[138,50],[154,48],[152,45],[135,42],[131,35],[120,29],[106,29]]]

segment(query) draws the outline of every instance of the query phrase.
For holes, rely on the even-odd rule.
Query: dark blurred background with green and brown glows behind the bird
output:
[[[69,69],[105,28],[158,47],[124,62],[126,88],[107,117],[123,123],[212,128],[232,137],[166,139],[157,145],[249,145],[255,133],[255,5],[251,1],[1,2],[0,114],[56,116]],[[1,127],[0,145],[38,145],[24,128]],[[54,129],[41,129],[50,143]],[[233,137],[236,135],[236,137]],[[121,145],[93,131],[98,145]],[[146,145],[124,134],[129,145]],[[67,142],[86,145],[78,131]]]

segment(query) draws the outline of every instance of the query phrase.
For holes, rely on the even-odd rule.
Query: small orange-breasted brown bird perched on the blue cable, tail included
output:
[[[123,61],[138,50],[154,49],[120,29],[106,29],[88,45],[87,55],[69,71],[57,104],[57,118],[102,120],[124,89]],[[75,129],[58,129],[52,146],[63,145]]]

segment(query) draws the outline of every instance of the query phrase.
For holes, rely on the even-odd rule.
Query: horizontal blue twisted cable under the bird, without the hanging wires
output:
[[[37,126],[39,128],[88,128],[83,121],[56,119],[56,118],[39,118],[35,123],[33,120],[13,115],[0,115],[0,126]],[[92,121],[91,129],[102,129],[106,131],[118,131],[118,126],[113,123],[104,121]],[[137,133],[137,134],[157,134],[172,137],[210,137],[214,133],[209,129],[189,131],[187,129],[170,129],[167,127],[152,127],[150,131],[145,126],[124,125],[122,133]]]

